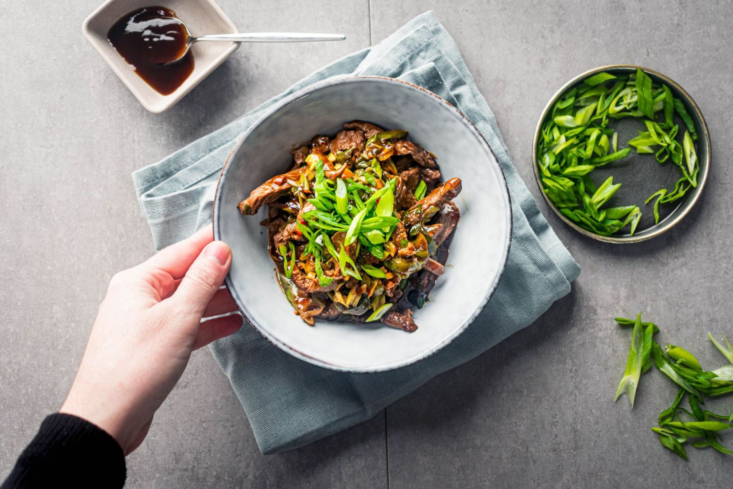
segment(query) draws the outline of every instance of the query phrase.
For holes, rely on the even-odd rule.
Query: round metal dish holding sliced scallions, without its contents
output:
[[[555,207],[552,201],[545,194],[542,189],[541,177],[539,174],[539,166],[537,164],[537,145],[539,139],[542,137],[542,124],[548,117],[552,106],[558,100],[564,92],[573,87],[575,84],[580,83],[583,79],[606,71],[612,74],[626,74],[636,72],[637,69],[643,70],[647,75],[652,77],[652,80],[659,83],[668,85],[671,89],[672,94],[682,100],[685,104],[690,117],[693,120],[697,133],[699,135],[698,141],[696,141],[697,156],[700,165],[700,172],[698,175],[698,185],[696,188],[690,188],[688,193],[679,199],[677,203],[669,203],[660,205],[660,220],[656,224],[652,216],[652,202],[649,205],[644,205],[644,200],[649,195],[657,191],[659,188],[666,186],[670,188],[670,185],[674,187],[674,182],[679,178],[679,169],[674,166],[674,163],[665,163],[663,165],[658,164],[652,155],[637,155],[635,151],[631,152],[626,158],[609,164],[608,166],[595,169],[593,174],[601,175],[604,179],[610,175],[614,176],[614,183],[622,183],[619,191],[616,192],[613,199],[611,199],[611,205],[633,205],[636,204],[641,208],[642,218],[638,224],[634,235],[612,235],[612,236],[600,236],[593,232],[589,232],[582,227],[579,227],[574,222],[570,221],[569,218],[564,216]],[[636,125],[636,127],[634,127]],[[618,120],[613,123],[614,130],[619,132],[619,148],[626,147],[626,141],[631,137],[636,136],[636,129],[643,129],[643,126],[638,124],[638,121],[631,120]],[[682,129],[683,126],[681,126]],[[586,71],[580,75],[572,78],[567,84],[564,84],[545,106],[545,110],[542,111],[542,115],[539,117],[537,122],[537,129],[534,131],[534,141],[532,141],[532,163],[534,164],[534,177],[539,190],[542,192],[542,196],[545,197],[548,205],[557,214],[565,224],[580,232],[582,235],[586,235],[589,238],[595,240],[605,241],[607,243],[638,243],[640,241],[649,240],[655,238],[663,232],[666,232],[671,227],[674,227],[682,218],[687,216],[692,209],[693,205],[697,202],[700,194],[705,187],[707,182],[707,174],[710,172],[710,133],[707,130],[707,124],[705,123],[704,117],[698,108],[695,101],[690,97],[685,89],[682,89],[674,80],[664,76],[655,70],[649,70],[649,68],[636,66],[636,65],[608,65],[594,68],[593,70]],[[675,205],[676,204],[676,205]],[[667,207],[665,207],[667,206]]]

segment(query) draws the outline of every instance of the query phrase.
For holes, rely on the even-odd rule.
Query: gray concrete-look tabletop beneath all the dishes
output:
[[[644,378],[633,411],[625,400],[612,402],[628,333],[611,320],[643,309],[662,326],[660,342],[690,347],[710,365],[721,357],[707,331],[733,334],[730,1],[218,3],[242,30],[334,29],[348,39],[246,46],[155,116],[81,36],[97,1],[38,9],[4,3],[0,477],[43,416],[61,405],[108,279],[152,251],[130,172],[432,9],[460,46],[537,198],[531,139],[564,81],[631,62],[682,84],[712,134],[712,172],[696,209],[663,238],[619,247],[575,235],[540,202],[583,267],[573,292],[534,325],[385,413],[292,452],[259,454],[226,378],[199,351],[147,441],[128,457],[128,487],[730,486],[728,457],[690,449],[685,463],[649,431],[674,395],[658,372]],[[49,31],[57,37],[40,35]],[[715,406],[730,411],[733,400]]]

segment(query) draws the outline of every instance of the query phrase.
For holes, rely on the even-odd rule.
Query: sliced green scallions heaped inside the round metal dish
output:
[[[679,138],[677,113],[687,130]],[[619,149],[619,136],[609,125],[611,120],[634,117],[646,130]],[[623,229],[636,232],[641,219],[638,206],[624,216],[608,216],[604,206],[616,193],[620,183],[613,179],[596,186],[592,172],[625,158],[632,148],[636,152],[655,155],[658,163],[672,161],[682,173],[674,190],[662,188],[645,203],[654,202],[655,221],[659,208],[674,202],[697,186],[699,161],[694,141],[697,133],[681,100],[671,89],[644,73],[616,76],[600,72],[567,90],[553,105],[543,122],[537,147],[542,190],[560,213],[578,226],[597,235],[610,236]]]

